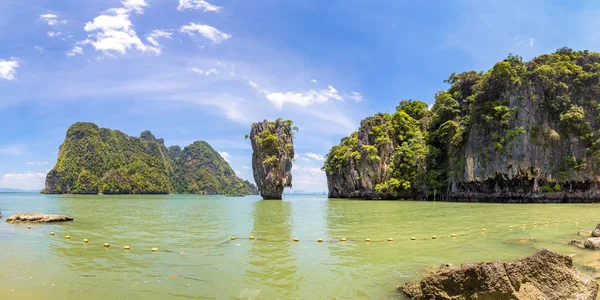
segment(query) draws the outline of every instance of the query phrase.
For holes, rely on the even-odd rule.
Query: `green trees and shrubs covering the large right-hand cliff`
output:
[[[510,54],[487,72],[445,82],[450,87],[431,109],[402,101],[392,115],[363,120],[327,155],[328,178],[357,169],[362,178],[375,172],[373,190],[388,196],[446,192],[450,181],[464,181],[467,147],[476,148],[485,172],[489,160],[510,160],[524,143],[552,153],[545,172],[555,180],[600,171],[600,53],[561,48],[529,62]],[[554,181],[543,184],[542,191],[561,190]]]

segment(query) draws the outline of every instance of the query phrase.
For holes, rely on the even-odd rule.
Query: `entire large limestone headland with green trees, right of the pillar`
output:
[[[509,55],[446,82],[430,109],[402,101],[333,147],[330,197],[600,201],[600,53]]]

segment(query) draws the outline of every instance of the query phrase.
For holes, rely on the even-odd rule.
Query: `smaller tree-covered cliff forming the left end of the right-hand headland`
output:
[[[331,149],[323,169],[330,198],[421,198],[428,149],[427,104],[403,101],[377,114]]]

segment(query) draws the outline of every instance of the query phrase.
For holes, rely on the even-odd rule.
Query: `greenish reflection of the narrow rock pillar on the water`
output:
[[[292,208],[286,201],[257,201],[253,209],[251,234],[260,237],[251,243],[248,264],[244,276],[248,290],[241,298],[257,296],[257,287],[262,287],[261,297],[298,294],[298,268],[296,244],[292,242]]]

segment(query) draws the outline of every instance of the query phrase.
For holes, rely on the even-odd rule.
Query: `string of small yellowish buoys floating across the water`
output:
[[[590,221],[594,221],[594,220],[585,219],[585,222],[590,222]],[[598,218],[596,218],[596,221],[598,221]],[[11,222],[11,223],[13,223],[13,222]],[[578,225],[580,223],[580,221],[579,221],[579,219],[575,219],[575,222],[572,222],[572,223],[570,223],[569,220],[565,220],[565,221],[555,220],[554,221],[554,225],[559,225],[561,223],[562,224]],[[490,231],[488,231],[486,228],[481,228],[479,235],[488,235],[488,234],[493,234],[493,233],[496,233],[496,232],[503,232],[503,231],[506,231],[506,230],[508,230],[508,231],[514,231],[516,229],[524,230],[524,229],[527,229],[527,228],[549,227],[549,224],[550,224],[550,222],[548,222],[548,221],[539,222],[539,223],[534,222],[534,223],[531,223],[531,224],[522,223],[522,224],[519,224],[519,225],[508,225],[508,226],[504,226],[504,227],[498,227],[498,228],[492,229]],[[27,228],[27,230],[31,230],[32,229],[31,225],[27,225],[26,228]],[[464,232],[464,233],[460,233],[460,234],[451,233],[449,235],[431,235],[429,237],[421,237],[421,238],[417,238],[415,236],[412,236],[410,238],[400,239],[400,240],[399,239],[395,239],[393,237],[389,237],[387,239],[381,239],[381,240],[372,240],[371,238],[350,239],[350,238],[347,238],[347,237],[341,237],[341,238],[335,239],[335,240],[325,240],[323,238],[318,238],[318,239],[316,239],[316,242],[317,243],[324,243],[324,242],[328,242],[328,243],[333,243],[333,242],[354,242],[354,243],[367,243],[368,244],[368,243],[381,243],[381,242],[392,243],[394,241],[401,241],[401,240],[406,240],[406,241],[430,240],[431,241],[431,240],[438,240],[438,239],[444,239],[444,238],[459,239],[459,238],[464,237],[464,236],[474,235],[475,233],[476,233],[475,231],[473,231],[473,232]],[[51,231],[50,235],[51,236],[56,236],[57,233],[54,232],[54,231]],[[71,240],[71,236],[70,235],[64,235],[64,238],[66,240]],[[82,240],[83,240],[83,244],[84,245],[95,245],[96,244],[96,243],[90,242],[86,238],[84,238]],[[249,237],[231,236],[229,239],[225,240],[221,244],[225,244],[225,243],[233,242],[233,241],[237,241],[237,240],[250,240],[250,241],[255,241],[256,240],[256,241],[267,241],[267,242],[285,242],[285,240],[267,240],[267,239],[260,238],[260,237],[255,237],[255,236],[249,236]],[[299,237],[294,237],[293,239],[288,240],[288,241],[300,242],[300,238]],[[312,240],[312,241],[315,241],[315,240]],[[109,248],[109,249],[110,248],[114,248],[114,247],[111,246],[110,243],[99,242],[97,244],[98,245],[102,245],[105,248]],[[236,244],[236,245],[239,246],[239,244]],[[130,251],[133,251],[134,248],[131,247],[130,245],[125,245],[125,246],[123,246],[123,250],[125,252],[130,252]],[[181,254],[181,255],[184,254],[183,252],[176,252],[176,251],[170,251],[170,250],[160,250],[159,251],[159,248],[157,248],[157,247],[145,248],[145,249],[136,248],[135,251],[149,251],[149,252],[152,252],[152,253],[156,253],[156,252],[168,252],[168,253],[178,253],[178,254]]]

